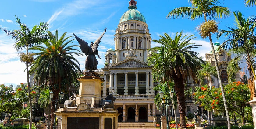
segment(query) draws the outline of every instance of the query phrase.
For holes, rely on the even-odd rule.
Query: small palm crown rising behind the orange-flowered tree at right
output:
[[[200,84],[204,84],[204,79],[207,80],[208,87],[212,87],[213,77],[217,76],[215,67],[211,66],[210,63],[202,64],[202,69],[198,71]]]

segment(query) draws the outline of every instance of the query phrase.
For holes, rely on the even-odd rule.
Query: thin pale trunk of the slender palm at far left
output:
[[[28,54],[28,46],[26,48],[26,55]],[[30,108],[30,120],[29,120],[29,129],[32,129],[32,121],[33,121],[33,112],[32,112],[32,100],[31,100],[31,90],[29,83],[29,71],[28,71],[28,62],[26,62],[26,70],[27,70],[27,88],[28,88],[28,100],[29,100],[29,108]]]

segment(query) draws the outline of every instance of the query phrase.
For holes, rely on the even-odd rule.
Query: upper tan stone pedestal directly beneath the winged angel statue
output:
[[[90,107],[101,106],[101,83],[104,82],[96,72],[84,72],[84,76],[77,78],[80,81],[79,95],[76,98],[76,105],[84,102]]]

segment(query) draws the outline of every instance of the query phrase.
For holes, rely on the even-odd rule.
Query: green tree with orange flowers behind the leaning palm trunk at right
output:
[[[215,115],[219,115],[224,110],[224,104],[222,99],[222,93],[220,88],[212,87],[211,89],[207,88],[207,86],[203,86],[201,88],[196,88],[196,92],[193,97],[195,99],[195,103],[201,103],[201,106],[204,106],[206,110],[215,111]],[[227,84],[224,87],[225,95],[227,99],[228,108],[233,114],[236,112],[241,115],[243,124],[245,123],[245,107],[250,107],[247,102],[250,100],[251,94],[248,85],[238,82],[233,82],[231,84]]]

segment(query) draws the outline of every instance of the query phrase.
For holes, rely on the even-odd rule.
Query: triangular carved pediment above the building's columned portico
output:
[[[130,58],[116,63],[109,68],[151,68],[151,66],[148,66],[146,63],[140,60]]]

